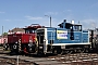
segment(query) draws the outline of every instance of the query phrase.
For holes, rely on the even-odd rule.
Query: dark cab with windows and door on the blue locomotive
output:
[[[65,28],[70,31],[71,40],[75,40],[74,39],[75,31],[82,31],[82,24],[74,24],[74,21],[72,21],[72,23],[66,23],[66,21],[64,20],[64,22],[59,24],[58,26],[60,28]]]

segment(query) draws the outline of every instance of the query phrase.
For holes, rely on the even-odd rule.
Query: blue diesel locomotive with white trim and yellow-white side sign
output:
[[[45,27],[37,29],[38,53],[88,52],[90,49],[89,31],[83,30],[82,24],[63,23],[59,28]]]

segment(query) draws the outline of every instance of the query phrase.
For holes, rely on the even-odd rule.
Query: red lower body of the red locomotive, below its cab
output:
[[[35,34],[12,34],[8,36],[8,43],[15,43],[19,42],[21,39],[21,43],[29,43],[29,40],[35,42]]]

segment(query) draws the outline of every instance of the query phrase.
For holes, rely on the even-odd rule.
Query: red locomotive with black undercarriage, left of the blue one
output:
[[[8,35],[8,44],[11,52],[36,52],[36,29],[45,26],[40,26],[39,24],[32,24],[30,26],[23,28],[25,29],[24,34],[15,32]]]

